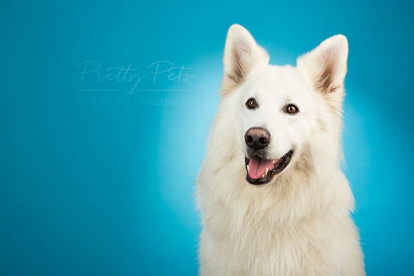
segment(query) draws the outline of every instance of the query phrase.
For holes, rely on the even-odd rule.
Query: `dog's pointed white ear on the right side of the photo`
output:
[[[297,68],[311,81],[315,90],[342,103],[347,60],[348,41],[342,34],[337,34],[299,57]]]

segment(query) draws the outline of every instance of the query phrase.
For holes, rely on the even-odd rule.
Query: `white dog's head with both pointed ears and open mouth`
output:
[[[315,133],[336,128],[330,121],[340,121],[347,57],[346,37],[335,35],[299,57],[296,67],[272,66],[245,28],[230,27],[221,96],[236,105],[250,184],[269,183],[302,158]]]

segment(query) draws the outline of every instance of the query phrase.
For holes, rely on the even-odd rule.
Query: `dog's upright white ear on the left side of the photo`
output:
[[[230,26],[224,48],[224,77],[221,95],[226,95],[242,84],[251,70],[259,64],[267,64],[269,55],[258,46],[248,30],[240,25]]]

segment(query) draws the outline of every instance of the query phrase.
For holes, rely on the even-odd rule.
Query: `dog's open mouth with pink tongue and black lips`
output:
[[[253,185],[267,184],[274,175],[282,172],[288,166],[292,155],[293,150],[289,150],[286,155],[275,160],[263,159],[258,156],[252,156],[250,159],[245,157],[246,180]]]

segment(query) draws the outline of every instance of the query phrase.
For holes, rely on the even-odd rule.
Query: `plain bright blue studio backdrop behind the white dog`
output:
[[[196,275],[194,179],[232,23],[277,64],[348,37],[344,170],[366,271],[413,271],[413,4],[312,2],[1,1],[0,275]],[[193,77],[128,94],[81,81],[83,61]]]

